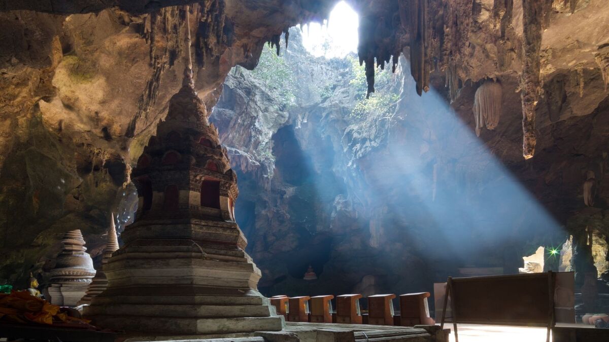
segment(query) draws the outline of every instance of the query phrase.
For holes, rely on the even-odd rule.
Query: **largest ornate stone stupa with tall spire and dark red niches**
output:
[[[104,265],[108,288],[85,307],[86,318],[145,336],[283,328],[257,291],[261,271],[234,221],[236,174],[194,90],[189,63],[132,180],[136,218]]]

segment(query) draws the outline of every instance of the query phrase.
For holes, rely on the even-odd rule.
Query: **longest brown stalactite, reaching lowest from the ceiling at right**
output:
[[[532,158],[537,138],[535,134],[535,106],[540,91],[540,47],[543,1],[523,0],[523,156]]]

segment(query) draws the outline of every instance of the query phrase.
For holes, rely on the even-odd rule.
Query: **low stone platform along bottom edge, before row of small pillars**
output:
[[[233,333],[230,335],[127,337],[122,342],[448,342],[450,329],[439,326],[371,326],[367,324],[295,323],[276,332]]]

